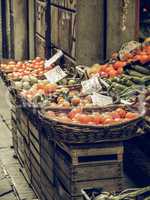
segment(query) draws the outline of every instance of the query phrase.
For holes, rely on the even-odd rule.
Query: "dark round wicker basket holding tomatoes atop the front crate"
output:
[[[96,110],[106,112],[116,109],[117,107],[120,107],[120,105],[99,109],[96,108]],[[66,110],[65,112],[69,111]],[[55,140],[70,144],[128,140],[141,135],[143,133],[141,130],[144,126],[142,115],[139,115],[138,118],[128,122],[103,126],[63,123],[55,119],[49,119],[44,112],[40,112],[39,117],[43,126],[44,123],[49,123],[50,129],[53,129],[54,131]]]

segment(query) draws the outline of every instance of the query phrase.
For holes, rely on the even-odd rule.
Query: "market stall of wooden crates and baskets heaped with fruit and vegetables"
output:
[[[12,103],[15,152],[39,197],[76,200],[91,184],[110,191],[126,187],[123,141],[148,129],[149,47],[140,44],[85,69],[45,66],[40,57],[1,62]],[[108,177],[102,178],[100,167]],[[93,170],[97,177],[90,175]]]

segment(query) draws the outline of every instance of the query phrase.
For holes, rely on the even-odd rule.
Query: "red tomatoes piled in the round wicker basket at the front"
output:
[[[47,116],[66,123],[88,124],[88,125],[113,125],[136,119],[139,115],[135,112],[128,112],[123,108],[117,108],[112,112],[86,113],[82,108],[74,108],[68,114],[56,114],[48,111]]]

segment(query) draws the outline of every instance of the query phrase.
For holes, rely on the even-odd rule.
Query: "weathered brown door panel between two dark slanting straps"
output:
[[[52,43],[75,58],[76,13],[57,7],[51,13]]]

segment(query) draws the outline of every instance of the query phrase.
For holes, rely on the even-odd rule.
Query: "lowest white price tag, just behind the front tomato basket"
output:
[[[102,94],[93,93],[93,95],[91,95],[91,98],[92,98],[93,104],[100,107],[113,104],[113,100],[111,97],[108,97]]]

